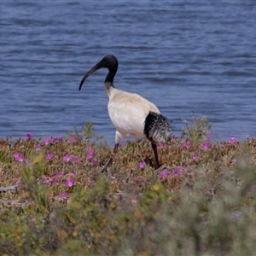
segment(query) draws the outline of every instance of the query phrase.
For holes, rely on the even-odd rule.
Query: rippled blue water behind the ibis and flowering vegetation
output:
[[[0,137],[65,136],[92,120],[113,145],[102,69],[175,126],[206,113],[217,140],[256,136],[254,1],[0,3]],[[124,140],[125,141],[125,140]]]

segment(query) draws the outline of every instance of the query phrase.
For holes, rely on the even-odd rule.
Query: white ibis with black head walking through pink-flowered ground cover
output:
[[[108,115],[116,129],[113,154],[119,148],[119,143],[123,137],[135,137],[137,139],[146,137],[151,142],[154,152],[155,169],[160,168],[157,144],[168,143],[171,140],[171,121],[160,113],[154,103],[149,102],[143,96],[115,88],[113,79],[117,73],[119,62],[114,55],[104,56],[102,61],[91,67],[81,80],[79,90],[82,89],[84,81],[102,67],[108,68],[105,79]],[[112,161],[113,156],[103,166],[102,172],[107,172]]]

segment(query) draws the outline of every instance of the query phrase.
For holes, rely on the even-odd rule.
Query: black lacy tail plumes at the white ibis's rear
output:
[[[150,111],[145,119],[144,134],[152,143],[167,143],[172,137],[169,119]]]

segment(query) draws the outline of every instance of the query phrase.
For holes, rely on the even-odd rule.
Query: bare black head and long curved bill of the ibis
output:
[[[107,67],[108,68],[108,75],[105,79],[105,83],[110,82],[113,83],[113,78],[115,76],[115,73],[117,72],[117,69],[119,67],[119,62],[116,59],[116,57],[114,55],[106,55],[102,61],[100,61],[99,63],[97,63],[94,67],[91,67],[90,70],[85,73],[84,78],[82,79],[80,86],[79,86],[79,90],[81,90],[84,81],[92,74],[95,73],[98,69],[102,68],[102,67]]]

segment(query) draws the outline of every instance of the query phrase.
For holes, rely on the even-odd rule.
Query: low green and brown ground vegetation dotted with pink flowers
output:
[[[212,142],[206,117],[112,154],[88,123],[67,137],[0,139],[1,255],[253,255],[256,138]]]

